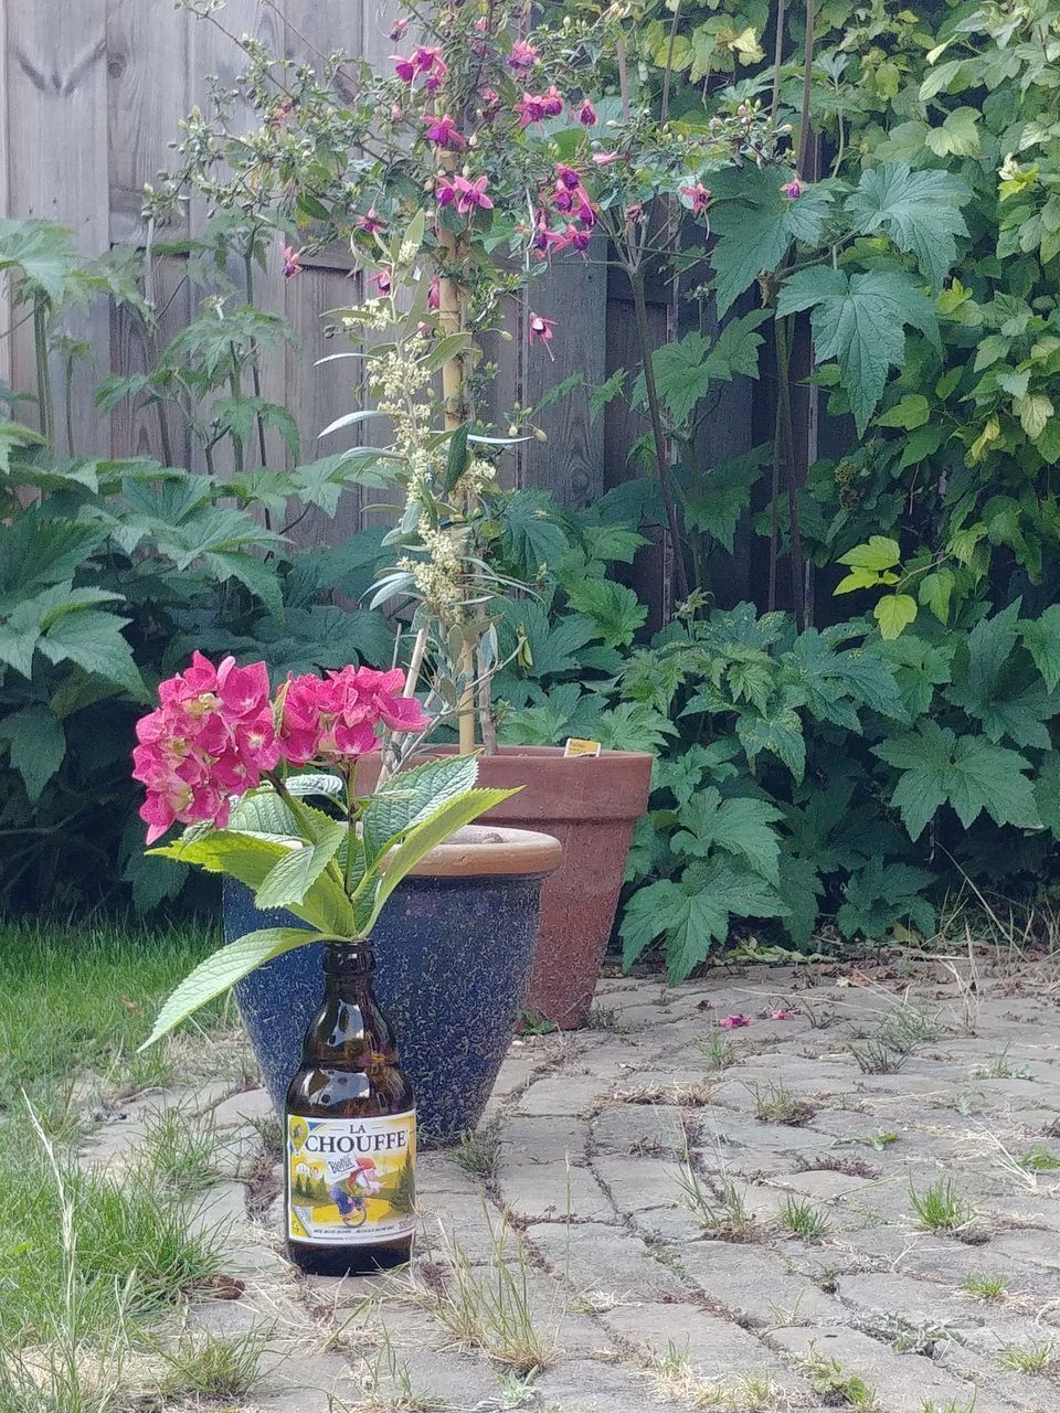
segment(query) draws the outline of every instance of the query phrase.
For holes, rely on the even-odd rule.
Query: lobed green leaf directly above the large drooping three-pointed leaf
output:
[[[885,230],[937,290],[957,260],[954,237],[968,235],[960,208],[970,199],[970,188],[950,172],[914,172],[905,162],[881,162],[862,172],[844,209],[861,235]]]

